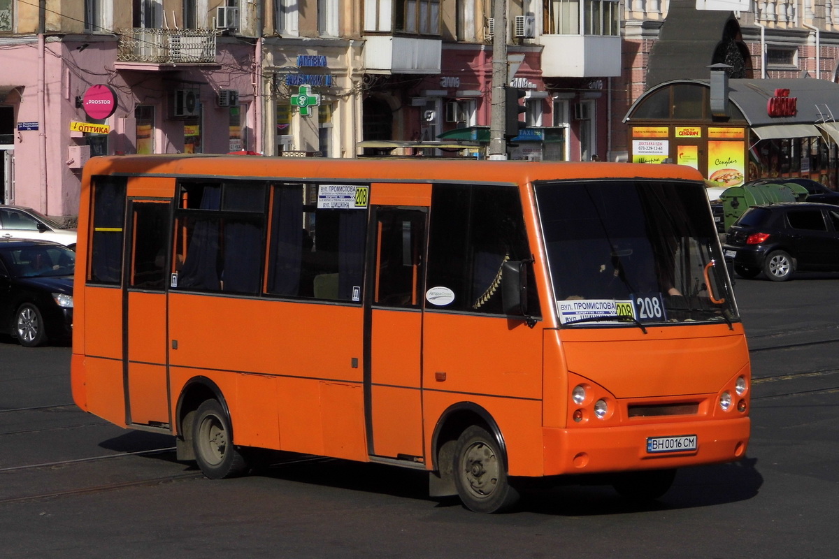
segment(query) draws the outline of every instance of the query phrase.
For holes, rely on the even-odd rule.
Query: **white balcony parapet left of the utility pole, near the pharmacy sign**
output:
[[[438,39],[367,35],[365,71],[372,74],[440,74],[443,42]]]

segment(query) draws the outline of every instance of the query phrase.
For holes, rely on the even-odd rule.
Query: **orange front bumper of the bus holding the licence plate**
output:
[[[724,463],[746,455],[748,417],[622,427],[544,428],[545,475],[595,474]],[[696,437],[696,449],[678,447]],[[666,444],[662,444],[666,443]]]

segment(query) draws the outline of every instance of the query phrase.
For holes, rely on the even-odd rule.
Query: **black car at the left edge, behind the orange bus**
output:
[[[69,337],[75,267],[58,243],[0,240],[0,334],[28,347]]]

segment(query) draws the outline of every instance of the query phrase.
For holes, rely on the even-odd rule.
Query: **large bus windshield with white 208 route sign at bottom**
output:
[[[705,193],[641,179],[535,185],[560,323],[737,319]]]

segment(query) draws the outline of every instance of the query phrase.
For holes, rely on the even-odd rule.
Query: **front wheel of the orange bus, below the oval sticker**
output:
[[[519,500],[498,442],[482,427],[473,425],[457,439],[454,474],[457,494],[470,510],[503,512]]]

